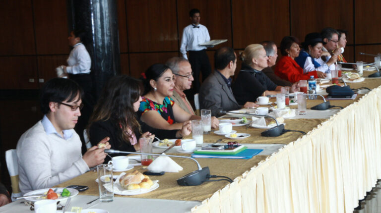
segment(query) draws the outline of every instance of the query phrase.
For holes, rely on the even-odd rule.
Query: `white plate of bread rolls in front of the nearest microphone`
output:
[[[149,176],[134,170],[129,173],[122,172],[114,182],[114,194],[117,195],[140,195],[159,188],[158,180],[151,180]],[[111,191],[111,184],[104,187]]]

